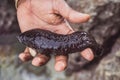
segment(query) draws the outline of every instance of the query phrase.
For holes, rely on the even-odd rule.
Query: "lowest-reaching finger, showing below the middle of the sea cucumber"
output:
[[[55,70],[63,71],[67,67],[68,57],[64,55],[59,55],[55,57]]]

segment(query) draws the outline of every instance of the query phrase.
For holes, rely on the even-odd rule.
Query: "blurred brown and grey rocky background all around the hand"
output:
[[[0,80],[120,80],[120,0],[67,0],[75,10],[88,13],[87,23],[71,24],[74,30],[90,32],[103,45],[103,55],[88,62],[78,53],[70,55],[65,72],[55,72],[52,59],[43,67],[23,63],[24,47],[13,0],[0,0]]]

